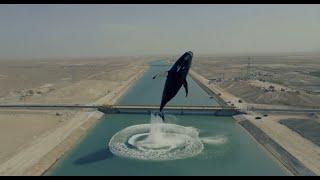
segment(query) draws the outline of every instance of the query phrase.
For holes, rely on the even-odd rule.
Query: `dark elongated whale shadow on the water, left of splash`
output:
[[[90,163],[95,163],[98,161],[103,161],[106,159],[110,159],[113,157],[113,154],[110,152],[109,148],[108,149],[100,149],[96,152],[93,152],[91,154],[88,154],[84,157],[81,157],[74,161],[75,165],[84,165],[84,164],[90,164]]]

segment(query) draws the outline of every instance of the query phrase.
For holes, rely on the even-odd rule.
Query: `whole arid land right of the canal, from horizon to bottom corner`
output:
[[[320,174],[319,54],[199,56],[193,70],[229,105],[244,110],[248,121]]]

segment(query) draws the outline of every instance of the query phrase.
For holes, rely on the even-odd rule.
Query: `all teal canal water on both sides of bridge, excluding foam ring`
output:
[[[119,104],[159,105],[165,78],[153,80],[159,71],[168,70],[162,61],[149,70],[118,101]],[[184,89],[168,105],[217,105],[188,78],[189,96]],[[46,175],[289,175],[232,117],[169,116],[170,121],[200,131],[204,140],[201,154],[171,161],[142,161],[113,155],[107,144],[118,131],[150,122],[150,115],[105,115],[70,152]]]

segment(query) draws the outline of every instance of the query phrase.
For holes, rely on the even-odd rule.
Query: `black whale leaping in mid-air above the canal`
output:
[[[155,75],[153,79],[159,77],[159,76],[166,76],[166,82],[164,85],[164,89],[162,92],[162,99],[160,104],[160,117],[164,121],[164,114],[163,114],[163,108],[165,105],[174,98],[180,88],[183,86],[186,91],[186,97],[188,96],[188,82],[187,82],[187,75],[189,72],[189,69],[191,67],[193,58],[193,53],[191,51],[185,52],[171,67],[169,71],[166,71],[164,73],[159,73],[158,75]]]

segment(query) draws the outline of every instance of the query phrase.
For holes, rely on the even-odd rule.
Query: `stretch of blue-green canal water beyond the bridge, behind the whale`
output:
[[[120,98],[118,104],[122,105],[160,105],[162,90],[166,78],[159,77],[152,79],[159,72],[169,70],[170,66],[162,61],[155,61],[150,64],[149,70],[138,80],[135,85]],[[186,98],[184,87],[181,87],[177,96],[172,99],[170,105],[219,105],[210,99],[210,96],[203,91],[189,76],[187,77],[189,94]]]

